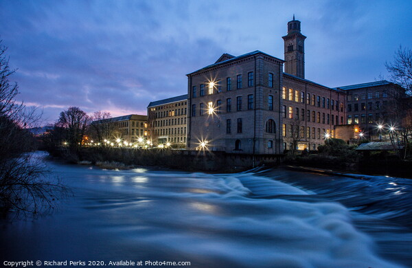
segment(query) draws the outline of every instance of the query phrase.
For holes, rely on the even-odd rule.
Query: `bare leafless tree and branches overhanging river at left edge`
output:
[[[0,41],[0,210],[3,215],[10,210],[38,213],[50,208],[65,187],[47,177],[41,161],[27,153],[34,148],[34,139],[26,128],[38,115],[16,101],[19,87],[9,82],[14,70],[5,51]]]

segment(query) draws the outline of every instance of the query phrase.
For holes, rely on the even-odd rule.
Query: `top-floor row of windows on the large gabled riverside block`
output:
[[[254,74],[253,71],[249,71],[247,73],[247,87],[253,87],[254,85]],[[205,87],[207,85],[207,93],[209,95],[214,94],[214,93],[220,93],[222,92],[222,81],[217,80],[216,82],[208,82],[205,84],[199,85],[199,91],[198,87],[192,86],[192,98],[196,98],[197,96],[205,96]],[[273,87],[273,74],[269,73],[268,74],[268,87]],[[243,88],[243,80],[242,80],[242,74],[238,74],[236,76],[236,89],[242,89]],[[232,79],[231,77],[226,78],[226,91],[231,91],[232,89]]]

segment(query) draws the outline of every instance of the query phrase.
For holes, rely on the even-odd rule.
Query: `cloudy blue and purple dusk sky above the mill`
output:
[[[0,0],[0,39],[18,100],[53,123],[71,106],[146,115],[224,53],[283,59],[293,14],[307,36],[306,79],[339,87],[389,78],[385,62],[412,48],[411,10],[410,0]]]

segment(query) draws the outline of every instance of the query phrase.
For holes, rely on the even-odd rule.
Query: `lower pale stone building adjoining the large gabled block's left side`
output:
[[[148,128],[152,144],[185,148],[187,132],[187,95],[150,102]]]

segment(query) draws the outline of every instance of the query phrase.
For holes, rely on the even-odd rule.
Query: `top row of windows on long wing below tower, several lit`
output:
[[[282,88],[282,99],[301,103],[306,102],[306,104],[308,105],[312,104],[312,106],[322,107],[325,109],[336,109],[336,111],[339,111],[339,107],[341,107],[341,112],[343,112],[343,104],[340,103],[339,105],[339,102],[337,100],[330,100],[330,98],[316,96],[310,93],[306,93],[305,95],[304,91],[301,91],[299,93],[299,90],[286,90],[286,87]]]

